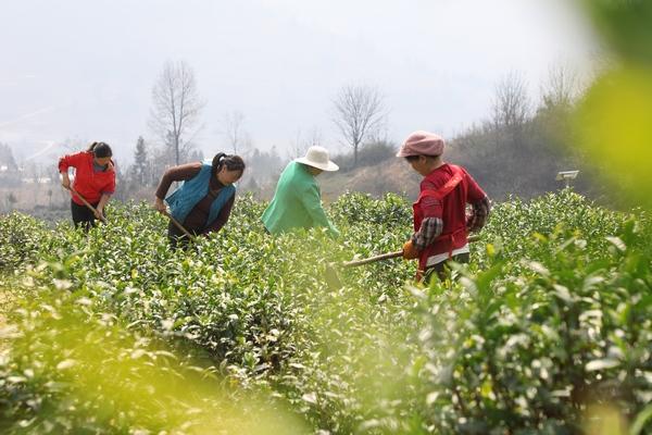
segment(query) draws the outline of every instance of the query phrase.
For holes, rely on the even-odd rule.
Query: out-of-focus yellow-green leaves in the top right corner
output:
[[[652,2],[585,1],[613,58],[574,116],[579,146],[614,189],[652,207]]]

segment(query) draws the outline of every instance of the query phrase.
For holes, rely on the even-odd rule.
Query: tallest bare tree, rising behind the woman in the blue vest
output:
[[[204,105],[192,69],[184,61],[166,62],[152,89],[150,127],[173,150],[175,164],[192,149]]]

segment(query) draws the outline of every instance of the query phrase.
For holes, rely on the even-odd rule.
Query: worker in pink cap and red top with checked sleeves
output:
[[[467,235],[487,221],[490,202],[487,194],[462,166],[441,160],[443,139],[428,132],[411,134],[397,157],[408,160],[424,176],[419,196],[412,206],[414,234],[403,246],[403,258],[418,259],[417,279],[428,283],[434,274],[447,276],[446,264],[467,263]],[[466,204],[472,214],[466,215]]]

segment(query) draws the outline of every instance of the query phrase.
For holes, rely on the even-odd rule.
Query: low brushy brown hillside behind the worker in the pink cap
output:
[[[491,144],[491,142],[489,142]],[[504,144],[499,140],[499,144]],[[477,147],[467,137],[459,137],[447,146],[443,154],[446,162],[464,166],[489,197],[497,201],[507,196],[532,198],[564,187],[555,181],[557,171],[579,169],[580,177],[573,182],[574,189],[599,202],[609,202],[605,189],[595,177],[595,169],[587,162],[578,162],[562,150],[539,144],[539,148],[480,146]],[[422,176],[412,170],[404,159],[394,157],[398,146],[383,145],[384,152],[372,150],[373,161],[363,161],[359,167],[351,167],[352,156],[336,156],[334,161],[341,170],[324,173],[318,181],[322,195],[329,202],[342,192],[363,191],[379,197],[386,192],[404,195],[415,199]],[[515,149],[516,148],[516,149]],[[613,204],[612,204],[613,206]]]

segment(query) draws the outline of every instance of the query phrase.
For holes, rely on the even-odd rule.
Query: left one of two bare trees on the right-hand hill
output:
[[[496,86],[493,96],[492,121],[497,127],[519,127],[530,116],[531,103],[527,86],[522,74],[511,72]]]

